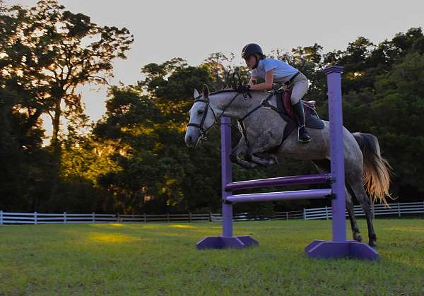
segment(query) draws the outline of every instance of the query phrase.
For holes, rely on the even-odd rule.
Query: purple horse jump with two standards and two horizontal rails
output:
[[[324,199],[332,196],[332,240],[314,240],[305,248],[311,258],[353,257],[360,259],[379,259],[375,249],[360,242],[346,239],[346,201],[343,158],[343,119],[341,103],[341,66],[324,69],[327,76],[329,95],[330,153],[331,174],[309,176],[279,177],[270,179],[232,182],[231,161],[231,119],[221,117],[221,167],[223,189],[223,235],[205,237],[196,244],[197,249],[224,249],[228,247],[245,248],[257,246],[256,239],[249,236],[232,236],[232,203],[252,201],[276,201],[292,199]],[[312,189],[300,191],[270,192],[262,194],[232,194],[232,190],[281,186],[288,184],[331,183],[331,189]]]

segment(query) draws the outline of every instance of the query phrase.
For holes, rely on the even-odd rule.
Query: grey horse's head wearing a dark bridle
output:
[[[199,95],[194,90],[194,104],[189,111],[190,122],[187,124],[185,142],[188,147],[196,146],[199,138],[203,138],[206,132],[216,124],[216,113],[209,103],[209,89],[205,85],[203,94]]]

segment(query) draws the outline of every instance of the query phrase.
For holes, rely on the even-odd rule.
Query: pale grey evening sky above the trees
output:
[[[34,6],[37,1],[5,2]],[[235,63],[241,64],[240,51],[250,42],[261,45],[265,53],[315,42],[331,52],[346,49],[358,36],[379,43],[408,28],[424,27],[424,1],[418,0],[59,0],[59,4],[90,16],[93,23],[125,27],[134,35],[127,59],[114,62],[110,84],[134,84],[144,65],[173,57],[196,66],[213,52],[233,52]],[[81,90],[92,120],[105,113],[106,90]]]

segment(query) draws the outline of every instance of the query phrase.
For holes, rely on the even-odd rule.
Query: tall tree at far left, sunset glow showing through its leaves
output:
[[[21,107],[29,130],[40,115],[52,117],[52,146],[59,151],[60,118],[81,112],[78,85],[107,83],[112,60],[125,58],[134,38],[126,28],[99,26],[82,13],[71,13],[56,0],[33,8],[12,6],[1,15],[0,69],[7,85],[27,97]]]

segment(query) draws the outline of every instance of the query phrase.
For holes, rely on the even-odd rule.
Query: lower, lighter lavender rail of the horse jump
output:
[[[325,199],[331,196],[331,189],[310,189],[298,191],[266,192],[259,194],[234,194],[227,196],[230,203],[245,203],[253,201],[291,201],[294,199]]]

